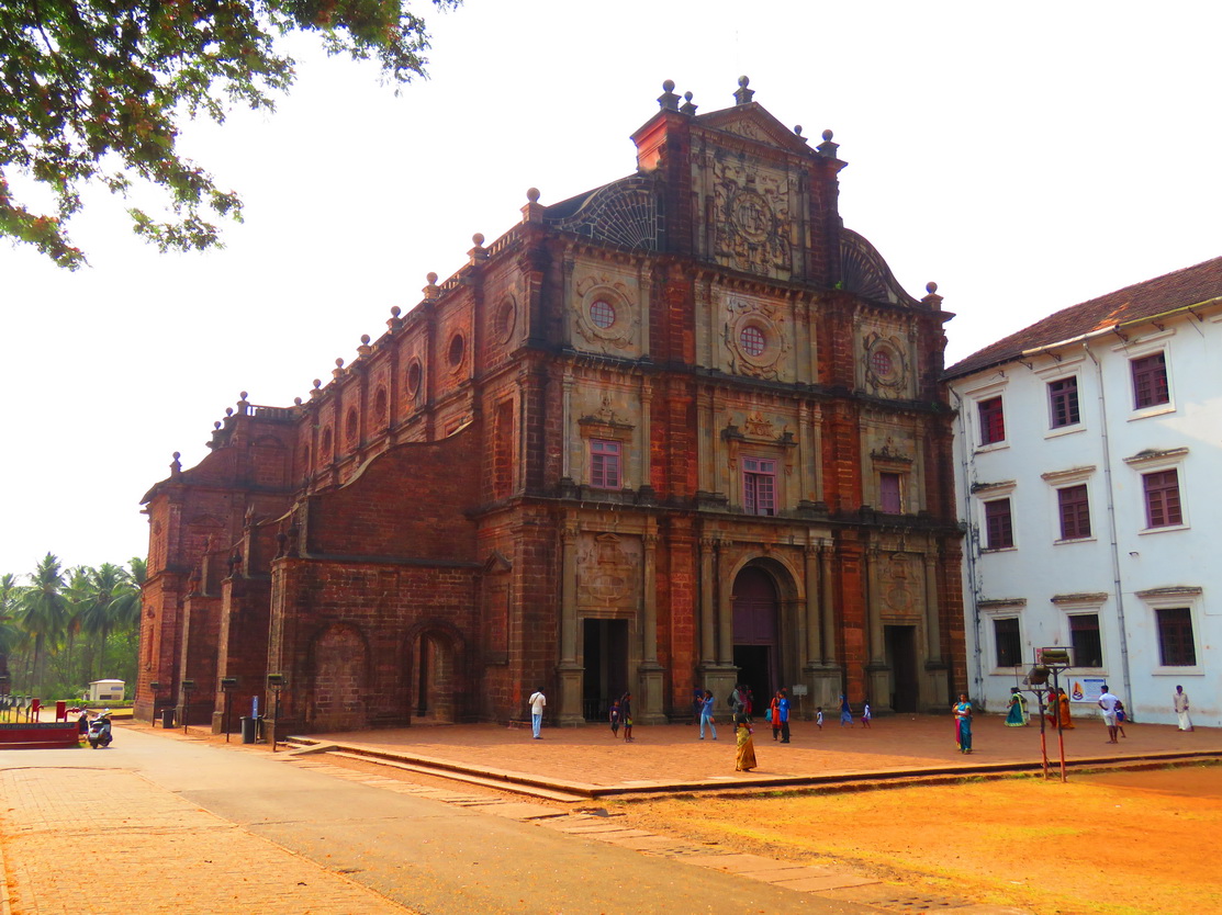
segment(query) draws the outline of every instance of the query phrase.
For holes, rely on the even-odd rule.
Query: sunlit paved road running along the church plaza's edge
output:
[[[108,750],[4,751],[11,910],[879,911],[800,892],[852,886],[844,875],[694,854],[598,817],[457,790],[126,728]],[[82,889],[97,877],[100,897]]]

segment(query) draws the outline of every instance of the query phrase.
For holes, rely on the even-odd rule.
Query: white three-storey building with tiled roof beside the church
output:
[[[1138,722],[1222,726],[1222,258],[1057,312],[946,373],[969,688],[1072,649]],[[1067,682],[1068,680],[1068,682]],[[1080,699],[1073,695],[1080,688]]]

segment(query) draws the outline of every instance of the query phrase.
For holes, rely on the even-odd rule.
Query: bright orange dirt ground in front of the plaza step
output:
[[[1040,915],[1222,911],[1222,767],[609,806],[643,827],[796,862],[853,862]]]

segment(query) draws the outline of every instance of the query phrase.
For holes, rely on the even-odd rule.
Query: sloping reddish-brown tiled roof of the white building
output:
[[[1218,296],[1222,296],[1222,258],[1063,308],[956,363],[946,370],[943,377],[970,375],[990,365],[1011,362],[1026,349],[1058,343],[1117,324],[1152,318]]]

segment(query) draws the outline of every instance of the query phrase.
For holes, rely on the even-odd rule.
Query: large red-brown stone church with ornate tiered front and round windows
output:
[[[842,226],[818,145],[670,82],[626,178],[522,220],[304,402],[246,395],[147,495],[137,716],[281,733],[683,720],[965,688],[951,316]],[[220,689],[221,678],[230,693]],[[187,689],[183,689],[186,684]]]

